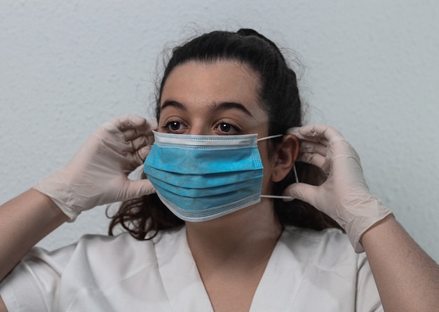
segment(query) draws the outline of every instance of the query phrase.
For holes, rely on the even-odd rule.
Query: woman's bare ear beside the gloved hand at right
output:
[[[295,135],[284,135],[274,159],[271,181],[279,182],[285,178],[295,164],[299,154],[300,142]]]

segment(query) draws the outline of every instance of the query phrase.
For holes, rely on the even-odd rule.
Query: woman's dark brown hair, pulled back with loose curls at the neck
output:
[[[295,72],[275,43],[252,29],[238,32],[210,32],[188,41],[173,50],[156,94],[156,117],[160,118],[161,93],[168,75],[187,62],[215,62],[232,60],[242,62],[259,76],[259,103],[269,115],[269,135],[285,133],[288,128],[302,126],[302,101],[297,88]],[[271,140],[276,145],[282,139]],[[319,185],[324,182],[323,172],[306,163],[296,163],[300,182]],[[295,182],[292,172],[281,182],[273,183],[273,194],[281,195],[286,186]],[[276,215],[283,226],[294,225],[322,230],[339,225],[323,212],[302,201],[273,201]],[[156,194],[143,196],[121,205],[112,217],[109,233],[120,224],[137,239],[154,237],[161,229],[172,229],[184,222],[175,217]]]

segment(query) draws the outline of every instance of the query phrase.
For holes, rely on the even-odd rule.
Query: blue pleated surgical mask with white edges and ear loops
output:
[[[201,222],[259,203],[262,161],[257,135],[175,135],[154,132],[144,172],[180,219]]]

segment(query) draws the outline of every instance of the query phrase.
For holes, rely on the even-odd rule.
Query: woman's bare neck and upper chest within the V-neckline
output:
[[[208,222],[187,222],[186,229],[215,311],[249,311],[282,231],[271,200]]]

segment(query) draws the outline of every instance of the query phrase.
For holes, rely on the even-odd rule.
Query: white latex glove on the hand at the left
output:
[[[156,121],[134,115],[104,123],[64,168],[38,182],[34,189],[49,196],[71,221],[96,205],[126,201],[155,192],[147,179],[128,174],[147,158]]]

